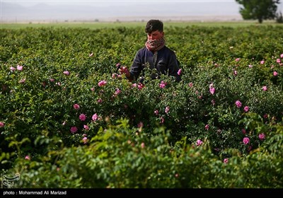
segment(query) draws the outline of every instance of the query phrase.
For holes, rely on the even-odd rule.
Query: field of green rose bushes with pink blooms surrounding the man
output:
[[[165,33],[179,83],[117,73],[144,28],[1,29],[1,188],[282,188],[283,26]]]

